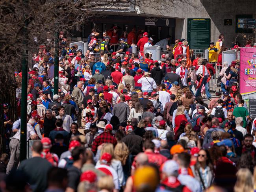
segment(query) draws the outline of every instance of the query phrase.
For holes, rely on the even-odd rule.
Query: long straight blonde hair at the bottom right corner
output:
[[[236,184],[234,186],[234,192],[241,192],[241,191],[252,191],[253,190],[253,181],[252,181],[252,174],[249,169],[241,168],[236,173]]]

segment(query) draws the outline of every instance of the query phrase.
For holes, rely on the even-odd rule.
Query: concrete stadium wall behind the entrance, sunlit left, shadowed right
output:
[[[241,43],[244,39],[238,35],[236,29],[236,15],[256,15],[255,0],[191,0],[193,4],[182,4],[177,1],[174,7],[156,11],[145,9],[146,14],[163,15],[176,19],[176,39],[187,39],[187,18],[210,18],[211,41],[216,42],[219,34],[224,34],[224,45],[230,47],[235,39]],[[232,19],[232,26],[224,26],[224,19]]]

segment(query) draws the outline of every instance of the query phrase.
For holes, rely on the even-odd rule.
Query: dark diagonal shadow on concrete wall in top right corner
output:
[[[200,0],[200,2],[210,15],[212,21],[211,39],[213,42],[216,42],[219,34],[222,33],[224,34],[223,43],[229,48],[235,40],[245,44],[245,39],[243,39],[242,35],[236,33],[236,15],[251,14],[255,18],[256,3],[254,0]],[[224,25],[224,19],[232,19],[232,25]]]

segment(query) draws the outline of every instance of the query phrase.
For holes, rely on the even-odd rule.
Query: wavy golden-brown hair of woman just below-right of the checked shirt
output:
[[[114,157],[121,161],[122,165],[126,164],[126,159],[129,156],[129,149],[124,142],[118,142],[115,146]]]

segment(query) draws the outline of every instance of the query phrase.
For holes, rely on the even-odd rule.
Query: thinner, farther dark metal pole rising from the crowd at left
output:
[[[54,94],[59,93],[59,32],[55,33]]]

